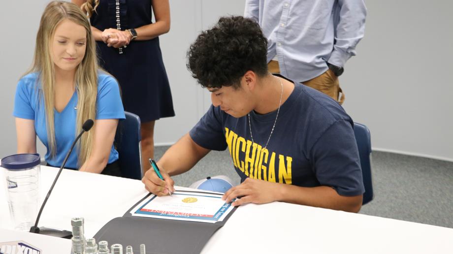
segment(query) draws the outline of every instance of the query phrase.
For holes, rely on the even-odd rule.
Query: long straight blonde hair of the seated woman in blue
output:
[[[82,130],[83,123],[88,119],[96,118],[97,99],[97,56],[95,39],[91,33],[90,23],[81,9],[70,2],[52,1],[41,16],[38,33],[36,35],[36,47],[34,49],[33,64],[25,74],[37,72],[42,84],[42,95],[46,112],[47,141],[51,156],[57,154],[55,141],[55,69],[51,54],[51,42],[55,29],[63,20],[70,20],[85,28],[87,33],[86,51],[82,62],[77,66],[74,81],[78,96],[76,133]],[[76,135],[74,133],[74,135]],[[78,145],[78,164],[83,165],[90,156],[93,142],[93,131],[85,133]]]

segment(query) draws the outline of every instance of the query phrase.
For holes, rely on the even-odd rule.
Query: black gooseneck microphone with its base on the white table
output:
[[[36,222],[34,222],[34,226],[32,226],[30,228],[30,232],[31,233],[50,235],[50,236],[56,236],[56,237],[61,237],[61,238],[67,238],[67,239],[70,239],[72,237],[72,232],[67,231],[67,230],[63,230],[62,231],[62,230],[57,230],[57,229],[53,229],[53,228],[46,228],[46,227],[39,228],[38,227],[38,222],[39,222],[39,218],[41,217],[42,210],[44,209],[44,206],[47,203],[47,199],[49,199],[50,193],[54,189],[55,183],[57,182],[58,177],[60,177],[60,174],[62,173],[62,170],[63,170],[63,168],[66,165],[66,161],[67,161],[67,159],[69,158],[69,155],[72,152],[72,149],[74,148],[75,144],[80,139],[82,134],[85,133],[86,131],[89,131],[93,127],[93,125],[94,125],[93,120],[88,119],[87,121],[85,121],[85,123],[82,126],[82,131],[75,138],[74,142],[72,142],[71,148],[69,149],[69,151],[66,154],[65,159],[63,160],[63,164],[61,165],[60,170],[58,170],[57,176],[55,177],[55,180],[54,180],[52,186],[50,187],[49,192],[47,192],[46,198],[44,198],[44,201],[42,202],[41,209],[39,209],[38,216],[36,217]]]

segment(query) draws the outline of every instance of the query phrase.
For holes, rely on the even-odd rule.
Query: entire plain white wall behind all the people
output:
[[[186,69],[186,51],[198,32],[218,17],[242,15],[244,1],[170,0],[171,30],[161,36],[161,47],[176,117],[157,122],[157,144],[175,142],[209,106],[210,95]],[[47,2],[2,2],[0,157],[16,151],[11,116],[15,86],[31,63],[39,17]],[[340,78],[345,109],[370,128],[373,149],[453,161],[453,16],[449,13],[453,2],[367,0],[366,4],[365,37]]]

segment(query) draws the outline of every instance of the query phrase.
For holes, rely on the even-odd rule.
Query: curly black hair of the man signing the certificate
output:
[[[201,32],[187,52],[187,68],[202,87],[240,86],[252,70],[267,74],[267,39],[256,21],[242,16],[221,17]]]

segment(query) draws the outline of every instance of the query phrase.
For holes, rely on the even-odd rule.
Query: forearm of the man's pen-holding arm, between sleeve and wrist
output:
[[[191,169],[209,150],[194,143],[189,134],[172,145],[157,162],[170,175],[179,175]]]

